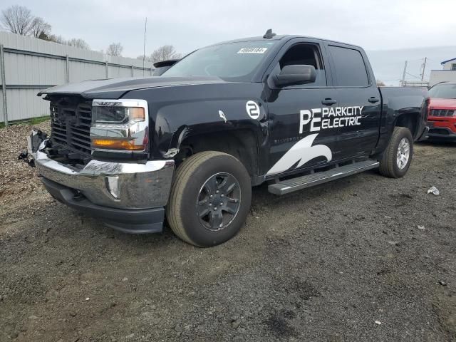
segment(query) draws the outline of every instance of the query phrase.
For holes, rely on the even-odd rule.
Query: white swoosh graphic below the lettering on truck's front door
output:
[[[271,167],[266,175],[275,175],[277,173],[285,172],[290,167],[298,162],[296,168],[309,162],[316,157],[326,157],[326,160],[330,161],[333,159],[333,154],[328,146],[326,145],[315,145],[312,146],[316,138],[316,134],[307,135],[306,138],[296,142],[291,148]]]

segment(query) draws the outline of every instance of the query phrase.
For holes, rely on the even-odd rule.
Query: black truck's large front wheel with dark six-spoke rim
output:
[[[239,232],[251,199],[250,176],[242,162],[227,153],[199,152],[177,168],[166,207],[167,222],[185,242],[215,246]]]

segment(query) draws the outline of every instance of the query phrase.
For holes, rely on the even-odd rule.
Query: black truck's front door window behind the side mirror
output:
[[[316,70],[316,80],[314,83],[307,83],[304,86],[326,86],[326,73],[323,68],[321,53],[316,44],[296,44],[291,46],[284,56],[280,58],[280,70],[284,66],[308,65],[314,66]],[[280,72],[280,71],[279,71]],[[294,86],[293,88],[302,88],[303,86]]]

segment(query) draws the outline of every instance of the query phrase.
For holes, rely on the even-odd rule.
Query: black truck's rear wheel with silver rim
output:
[[[408,158],[405,162],[406,145],[408,143]],[[398,160],[399,154],[403,157],[401,162]],[[393,135],[391,135],[388,147],[386,147],[383,157],[380,160],[380,167],[378,170],[380,174],[390,178],[403,177],[410,167],[413,157],[413,136],[408,128],[395,127]]]

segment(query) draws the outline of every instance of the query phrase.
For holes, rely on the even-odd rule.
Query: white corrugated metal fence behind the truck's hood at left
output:
[[[0,122],[5,123],[4,86],[8,121],[27,120],[48,115],[48,102],[36,96],[43,88],[102,78],[147,77],[153,71],[150,63],[143,68],[139,59],[107,56],[14,33],[0,32],[0,46],[4,51]]]

